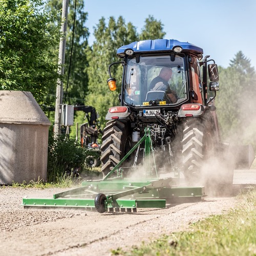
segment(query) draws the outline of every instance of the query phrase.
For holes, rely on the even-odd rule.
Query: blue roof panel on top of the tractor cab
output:
[[[180,46],[182,51],[193,52],[196,55],[203,54],[203,49],[195,45],[189,44],[189,42],[180,42],[173,39],[155,39],[155,40],[143,40],[132,42],[130,45],[122,46],[117,49],[117,55],[120,58],[125,56],[125,50],[131,49],[134,53],[147,53],[147,52],[170,52],[174,47]]]

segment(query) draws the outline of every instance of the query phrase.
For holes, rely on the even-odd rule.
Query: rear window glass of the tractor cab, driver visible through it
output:
[[[187,98],[185,58],[176,55],[127,59],[124,102],[132,106],[174,105]]]

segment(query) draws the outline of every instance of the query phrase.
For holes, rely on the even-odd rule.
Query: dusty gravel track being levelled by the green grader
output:
[[[256,183],[256,172],[241,175],[235,175],[234,183]],[[133,214],[24,209],[20,205],[24,196],[52,197],[59,191],[63,189],[0,187],[1,254],[110,255],[111,249],[129,249],[160,234],[184,230],[189,223],[221,214],[237,203],[234,197],[207,197],[201,202],[172,204],[165,209],[138,209]]]

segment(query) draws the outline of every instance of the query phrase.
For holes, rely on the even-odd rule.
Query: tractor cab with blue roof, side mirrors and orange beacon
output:
[[[161,109],[180,109],[184,103],[206,105],[206,63],[214,60],[207,60],[209,56],[202,60],[202,54],[203,50],[195,45],[167,39],[132,42],[120,47],[117,55],[122,61],[112,63],[110,67],[116,63],[124,66],[121,105],[143,110],[159,106]],[[164,76],[163,70],[168,69],[171,75]],[[115,78],[111,77],[110,68],[109,73],[110,89],[115,90]],[[218,91],[215,62],[208,65],[208,75],[211,81],[209,91]]]

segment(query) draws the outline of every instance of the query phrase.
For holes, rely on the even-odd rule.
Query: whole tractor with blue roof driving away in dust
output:
[[[224,164],[227,154],[234,154],[230,145],[220,141],[214,104],[218,67],[209,56],[203,58],[201,48],[178,40],[143,40],[120,47],[117,56],[121,61],[109,66],[108,84],[110,90],[116,90],[111,67],[122,65],[120,105],[106,115],[109,121],[101,145],[103,176],[133,148],[147,127],[158,170],[182,173],[191,185],[201,182],[206,162],[218,157]],[[124,173],[142,165],[144,156],[142,143],[123,162]],[[225,168],[225,184],[232,184],[234,164],[229,161]],[[214,173],[206,169],[208,174]]]

